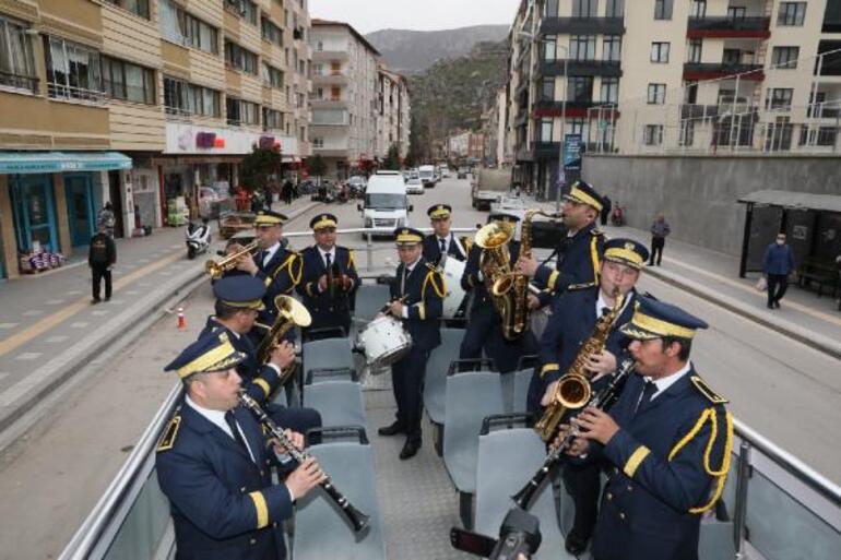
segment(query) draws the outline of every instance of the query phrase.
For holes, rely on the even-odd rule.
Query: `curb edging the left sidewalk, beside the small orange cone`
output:
[[[308,202],[299,208],[293,210],[288,214],[289,221],[297,218],[319,204],[319,202]],[[102,354],[116,355],[118,352],[126,348],[129,344],[134,342],[139,334],[167,314],[176,302],[189,297],[203,283],[203,267],[185,273],[181,277],[174,281],[175,286],[173,288],[167,288],[165,293],[158,296],[150,297],[151,301],[144,306],[146,309],[145,312],[115,318],[119,320],[120,324],[128,325],[128,327],[126,330],[112,329],[106,336],[91,343],[91,347],[85,352],[82,352],[78,356],[70,356],[67,358],[66,365],[61,366],[55,373],[51,373],[44,383],[40,383],[40,389],[28,391],[17,400],[14,407],[9,407],[9,409],[3,413],[0,417],[0,450],[12,443],[17,436],[22,434],[26,429],[40,420],[46,415],[46,410],[48,410],[49,407],[39,408],[38,404],[50,396],[55,396],[54,394],[58,390],[64,388],[76,373],[90,365],[94,356]],[[129,334],[129,336],[127,336],[127,334]],[[76,346],[83,344],[84,339],[78,343]],[[58,358],[61,358],[61,355],[54,359]],[[37,413],[35,410],[36,408],[39,408]],[[15,427],[15,425],[19,426]],[[12,430],[14,430],[14,433],[8,433]]]

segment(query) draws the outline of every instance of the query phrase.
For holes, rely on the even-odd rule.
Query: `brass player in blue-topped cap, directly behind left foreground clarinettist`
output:
[[[284,341],[272,352],[266,364],[259,364],[257,347],[248,336],[256,330],[257,315],[263,309],[264,294],[263,283],[252,276],[220,278],[213,285],[213,295],[216,296],[215,314],[208,318],[199,337],[209,333],[225,334],[234,348],[245,355],[236,367],[245,392],[260,403],[279,425],[306,433],[310,428],[321,427],[321,415],[318,410],[305,407],[287,408],[269,402],[281,386],[282,365],[289,364],[289,367],[294,367],[295,347]],[[264,335],[263,330],[260,337]],[[292,360],[288,359],[289,355]]]

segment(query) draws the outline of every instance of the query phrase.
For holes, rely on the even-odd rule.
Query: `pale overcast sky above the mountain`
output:
[[[510,25],[520,0],[310,0],[309,13],[353,25],[359,33],[378,29],[452,29],[469,25]]]

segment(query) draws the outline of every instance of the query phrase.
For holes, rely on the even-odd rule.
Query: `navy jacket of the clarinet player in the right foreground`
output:
[[[725,401],[694,369],[633,409],[644,381],[632,374],[609,415],[620,429],[591,457],[613,468],[593,538],[600,560],[697,560],[701,513],[730,468],[733,426]]]

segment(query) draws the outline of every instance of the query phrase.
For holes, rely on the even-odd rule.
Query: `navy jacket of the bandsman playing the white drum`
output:
[[[398,266],[396,277],[391,284],[391,298],[406,296],[403,305],[408,307],[408,319],[403,319],[403,324],[416,347],[431,350],[441,344],[438,319],[441,317],[446,294],[443,278],[435,266],[422,257],[412,273],[406,276],[405,286],[401,289],[404,266],[403,263]]]

